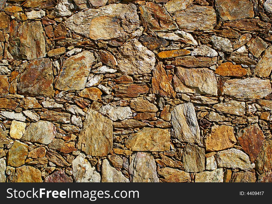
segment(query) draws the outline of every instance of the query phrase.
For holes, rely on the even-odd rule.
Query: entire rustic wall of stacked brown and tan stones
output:
[[[271,0],[0,0],[1,182],[272,181]]]

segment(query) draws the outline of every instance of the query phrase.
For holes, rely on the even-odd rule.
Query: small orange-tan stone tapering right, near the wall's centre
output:
[[[156,113],[158,111],[156,105],[150,103],[149,101],[143,99],[142,97],[133,98],[130,101],[130,107],[138,112]]]

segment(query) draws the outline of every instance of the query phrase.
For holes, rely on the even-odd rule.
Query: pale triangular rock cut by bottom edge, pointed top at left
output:
[[[101,168],[101,182],[130,182],[121,171],[112,167],[108,159],[103,159]]]

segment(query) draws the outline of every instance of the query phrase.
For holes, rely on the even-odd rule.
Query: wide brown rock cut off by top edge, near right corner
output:
[[[248,0],[215,0],[215,8],[223,21],[254,18],[253,3]]]

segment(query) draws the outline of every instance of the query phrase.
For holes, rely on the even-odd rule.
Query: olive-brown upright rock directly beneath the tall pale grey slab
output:
[[[182,154],[182,163],[186,172],[200,172],[205,169],[205,150],[187,143]]]

